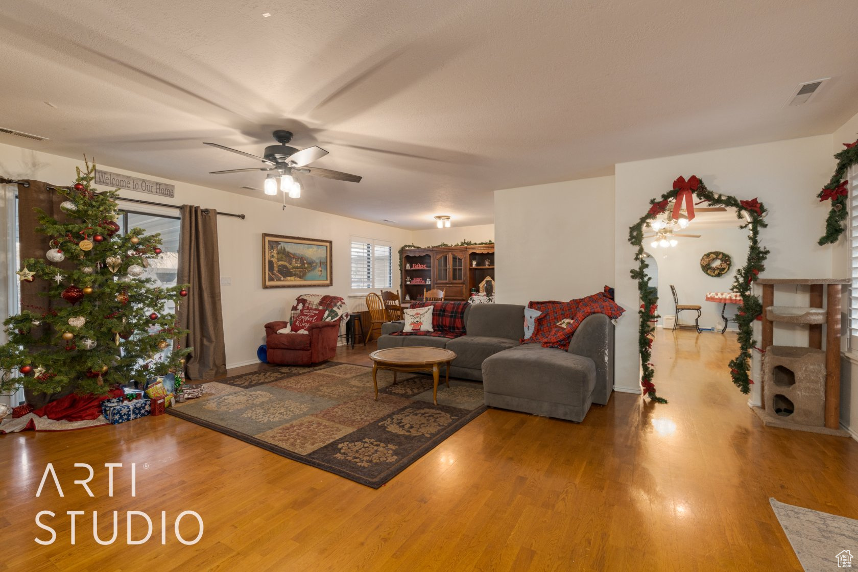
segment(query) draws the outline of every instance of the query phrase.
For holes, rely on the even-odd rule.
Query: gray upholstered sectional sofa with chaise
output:
[[[593,403],[607,404],[613,389],[613,322],[588,316],[569,350],[519,345],[524,306],[474,304],[465,310],[467,334],[448,339],[391,335],[402,322],[382,325],[378,348],[436,346],[456,352],[450,376],[483,382],[486,405],[581,421]]]

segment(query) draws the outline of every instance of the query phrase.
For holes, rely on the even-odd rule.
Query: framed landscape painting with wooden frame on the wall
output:
[[[263,288],[331,286],[331,241],[263,234]]]

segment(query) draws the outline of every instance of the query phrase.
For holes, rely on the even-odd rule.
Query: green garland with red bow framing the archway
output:
[[[635,253],[637,268],[631,270],[631,278],[637,280],[637,292],[641,298],[640,310],[637,312],[640,316],[637,347],[642,364],[641,387],[644,388],[644,393],[651,400],[667,403],[667,400],[656,394],[656,384],[653,382],[656,370],[650,362],[650,358],[652,358],[652,336],[656,332],[652,321],[660,316],[656,313],[658,304],[656,288],[650,286],[650,278],[646,275],[646,269],[650,265],[647,264],[644,253],[644,226],[650,220],[654,220],[663,214],[672,200],[675,200],[679,205],[685,201],[686,205],[689,206],[689,214],[693,210],[692,201],[695,200],[707,202],[713,207],[735,208],[736,218],[742,221],[740,228],[750,229],[748,235],[750,244],[745,266],[736,268],[733,286],[730,288],[733,292],[740,294],[742,298],[742,304],[736,312],[736,322],[739,325],[740,352],[729,363],[730,376],[736,387],[740,388],[743,394],[747,394],[751,391],[751,384],[753,383],[749,376],[751,352],[757,344],[757,341],[753,339],[753,322],[763,311],[763,304],[760,303],[758,297],[751,293],[751,285],[754,280],[757,280],[758,274],[765,269],[765,258],[769,255],[769,250],[760,246],[758,239],[759,229],[768,226],[763,220],[768,211],[763,203],[758,202],[756,198],[750,201],[740,201],[734,196],[713,193],[697,177],[692,177],[687,181],[682,177],[676,179],[674,188],[664,193],[661,199],[650,200],[649,212],[644,214],[636,224],[629,227],[629,242],[637,247]]]

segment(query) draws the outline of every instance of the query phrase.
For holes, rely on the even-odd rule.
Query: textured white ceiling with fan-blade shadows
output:
[[[478,225],[492,190],[831,133],[858,111],[856,21],[854,0],[15,0],[0,126],[51,141],[0,142],[246,194],[262,175],[208,172],[253,162],[202,141],[261,154],[286,128],[364,177],[308,178],[301,206]]]

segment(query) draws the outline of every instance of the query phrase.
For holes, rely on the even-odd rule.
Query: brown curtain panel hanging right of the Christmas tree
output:
[[[179,328],[190,330],[180,343],[182,347],[194,348],[185,358],[185,374],[190,379],[227,375],[217,212],[214,208],[182,205],[178,283],[190,285],[187,298],[178,304],[176,311]]]

